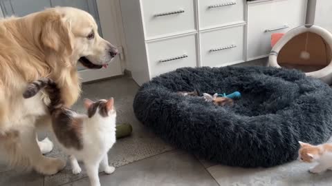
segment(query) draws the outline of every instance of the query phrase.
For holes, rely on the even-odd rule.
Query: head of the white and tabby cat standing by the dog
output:
[[[93,102],[89,99],[84,99],[84,106],[88,112],[89,118],[96,114],[102,117],[116,116],[116,110],[114,107],[114,99],[100,100]]]

